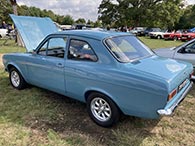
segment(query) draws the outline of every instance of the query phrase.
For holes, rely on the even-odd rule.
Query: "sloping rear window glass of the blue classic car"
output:
[[[105,42],[110,51],[121,62],[131,62],[153,55],[153,52],[134,36],[113,37]]]

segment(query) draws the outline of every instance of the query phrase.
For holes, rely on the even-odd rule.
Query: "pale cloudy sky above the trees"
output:
[[[70,15],[74,20],[84,18],[96,21],[98,6],[102,0],[17,0],[18,5],[35,6],[40,9],[52,10],[55,14]],[[195,4],[195,0],[187,0]]]

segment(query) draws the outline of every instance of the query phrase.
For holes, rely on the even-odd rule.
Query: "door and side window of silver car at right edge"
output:
[[[187,61],[195,66],[195,41],[177,49],[174,59]]]

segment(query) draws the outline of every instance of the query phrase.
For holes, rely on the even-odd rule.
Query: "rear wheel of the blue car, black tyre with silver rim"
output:
[[[103,127],[111,127],[120,119],[120,110],[116,104],[101,93],[91,93],[88,96],[87,111],[91,119]]]

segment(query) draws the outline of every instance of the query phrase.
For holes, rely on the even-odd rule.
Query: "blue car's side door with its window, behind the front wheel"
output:
[[[61,94],[65,93],[64,54],[66,37],[48,38],[27,65],[30,82]]]

